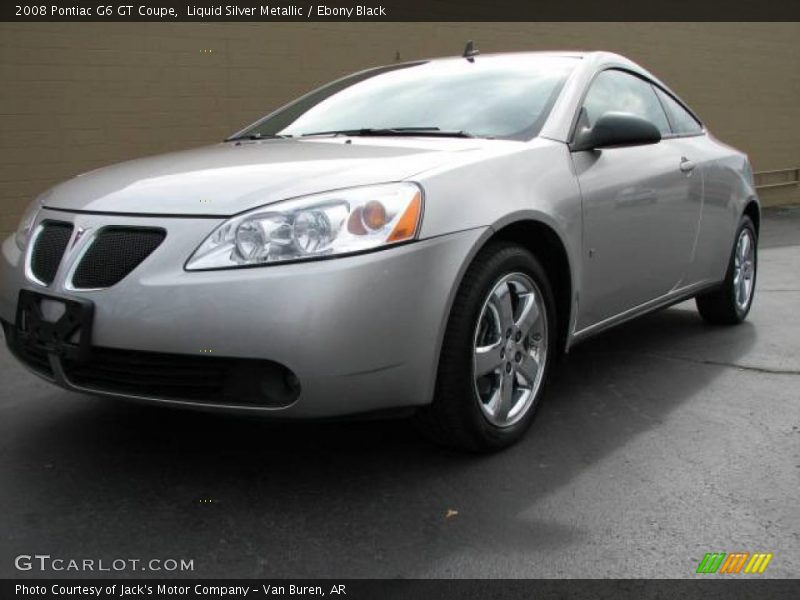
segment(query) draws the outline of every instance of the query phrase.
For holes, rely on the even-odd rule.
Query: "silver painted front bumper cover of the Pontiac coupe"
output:
[[[118,393],[91,393],[210,409],[328,417],[421,405],[432,399],[438,351],[454,289],[484,229],[357,256],[267,267],[187,272],[186,258],[221,219],[145,218],[43,210],[39,219],[97,231],[159,226],[163,244],[116,285],[68,290],[68,250],[53,283],[26,277],[13,238],[0,258],[0,318],[13,323],[20,289],[91,300],[95,347],[170,355],[274,361],[299,380],[300,395],[275,408]]]

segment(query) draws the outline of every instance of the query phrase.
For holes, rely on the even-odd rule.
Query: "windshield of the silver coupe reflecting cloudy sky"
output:
[[[392,130],[528,140],[539,133],[577,60],[478,56],[372,69],[300,98],[236,138]]]

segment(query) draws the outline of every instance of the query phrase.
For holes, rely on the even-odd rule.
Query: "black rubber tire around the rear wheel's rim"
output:
[[[734,288],[734,278],[736,276],[736,250],[739,237],[743,230],[748,230],[753,241],[753,278],[752,291],[745,306],[739,306],[736,302],[736,292]],[[747,318],[750,307],[753,305],[755,297],[756,277],[758,275],[758,234],[756,233],[753,221],[747,215],[742,217],[739,227],[736,229],[733,249],[728,260],[728,270],[725,273],[725,281],[717,289],[700,294],[695,298],[697,310],[705,321],[713,325],[738,325]]]

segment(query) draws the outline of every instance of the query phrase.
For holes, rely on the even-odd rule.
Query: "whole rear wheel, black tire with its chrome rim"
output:
[[[716,290],[697,296],[700,316],[715,325],[736,325],[750,312],[756,287],[758,237],[750,217],[742,217],[736,231],[725,281]]]

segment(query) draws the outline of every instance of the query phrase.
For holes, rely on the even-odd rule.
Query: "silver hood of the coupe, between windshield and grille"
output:
[[[229,216],[305,194],[407,179],[491,143],[363,137],[227,142],[90,171],[52,188],[41,202],[91,212]]]

